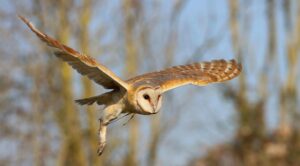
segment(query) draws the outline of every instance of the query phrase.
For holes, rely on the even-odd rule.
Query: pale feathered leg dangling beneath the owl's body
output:
[[[104,110],[104,116],[99,119],[99,145],[97,153],[100,156],[105,148],[106,145],[106,130],[108,124],[115,120],[120,114],[122,110],[121,109],[105,109]]]

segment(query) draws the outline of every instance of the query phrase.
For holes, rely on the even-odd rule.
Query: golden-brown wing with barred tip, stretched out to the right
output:
[[[166,92],[187,84],[203,86],[209,83],[231,80],[238,76],[241,70],[241,64],[238,64],[235,60],[213,60],[211,62],[174,66],[162,71],[146,73],[131,78],[127,83],[133,86],[144,84],[160,86],[163,92]]]

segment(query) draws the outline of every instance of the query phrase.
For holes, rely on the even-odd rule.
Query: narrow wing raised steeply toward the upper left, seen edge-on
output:
[[[88,55],[81,54],[74,49],[61,44],[59,41],[42,33],[36,29],[26,18],[19,16],[19,18],[45,43],[49,46],[57,48],[59,51],[55,55],[69,65],[71,65],[80,74],[87,76],[89,79],[95,81],[107,89],[128,89],[128,84],[117,77],[112,71],[105,66],[96,62],[95,59]]]

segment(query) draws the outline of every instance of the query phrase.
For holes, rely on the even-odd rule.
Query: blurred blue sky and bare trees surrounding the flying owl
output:
[[[300,1],[0,0],[0,165],[299,165]],[[87,53],[121,78],[237,59],[227,83],[185,86],[161,112],[109,126],[105,92],[52,55],[17,17]]]

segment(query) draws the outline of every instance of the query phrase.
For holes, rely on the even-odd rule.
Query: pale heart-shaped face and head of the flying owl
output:
[[[162,91],[160,87],[141,86],[136,90],[133,101],[141,114],[156,114],[161,108]]]

